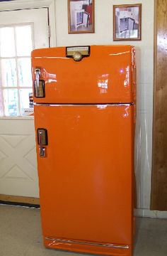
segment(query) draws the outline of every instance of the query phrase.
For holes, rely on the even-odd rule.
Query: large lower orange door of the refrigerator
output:
[[[132,244],[132,105],[36,105],[44,237]]]

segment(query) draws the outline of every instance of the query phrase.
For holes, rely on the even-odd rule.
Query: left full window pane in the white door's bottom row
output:
[[[18,90],[4,90],[4,109],[6,116],[18,115]]]

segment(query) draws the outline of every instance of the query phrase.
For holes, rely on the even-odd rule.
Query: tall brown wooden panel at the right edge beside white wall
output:
[[[166,1],[154,1],[154,109],[151,210],[167,210],[166,203]]]

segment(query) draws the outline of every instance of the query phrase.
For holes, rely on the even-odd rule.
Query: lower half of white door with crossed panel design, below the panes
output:
[[[0,119],[0,194],[39,197],[32,117]]]

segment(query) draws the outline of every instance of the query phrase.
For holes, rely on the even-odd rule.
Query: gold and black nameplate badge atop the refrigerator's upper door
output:
[[[73,46],[66,48],[66,56],[68,58],[74,58],[75,61],[79,61],[84,57],[90,55],[90,46]]]

